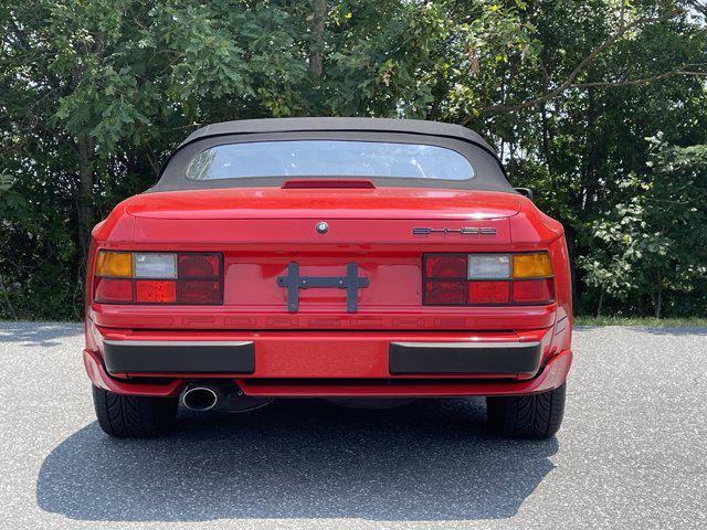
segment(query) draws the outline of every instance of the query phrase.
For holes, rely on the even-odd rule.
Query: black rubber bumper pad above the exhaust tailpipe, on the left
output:
[[[243,344],[104,341],[108,373],[253,373],[255,347]]]

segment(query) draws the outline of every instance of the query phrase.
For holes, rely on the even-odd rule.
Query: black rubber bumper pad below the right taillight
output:
[[[468,348],[443,343],[434,346],[391,343],[389,370],[393,375],[403,374],[536,374],[540,368],[541,344],[494,344]]]

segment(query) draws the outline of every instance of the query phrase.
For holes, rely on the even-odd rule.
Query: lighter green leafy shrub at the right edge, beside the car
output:
[[[654,152],[645,176],[622,181],[630,192],[625,203],[615,204],[592,223],[597,244],[580,258],[588,284],[622,301],[629,311],[632,300],[650,298],[656,317],[664,295],[671,301],[696,298],[693,304],[671,308],[673,314],[704,314],[701,296],[707,273],[707,146],[665,146],[653,139]],[[697,296],[694,296],[697,295]]]

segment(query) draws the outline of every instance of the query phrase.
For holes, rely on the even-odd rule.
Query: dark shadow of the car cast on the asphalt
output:
[[[464,520],[514,516],[552,469],[555,438],[489,436],[481,400],[389,410],[281,401],[182,413],[177,432],[112,439],[92,423],[44,460],[39,506],[72,519]]]

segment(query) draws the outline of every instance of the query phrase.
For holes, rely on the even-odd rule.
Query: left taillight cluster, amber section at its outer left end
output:
[[[99,304],[223,303],[221,254],[98,251],[94,300]]]

